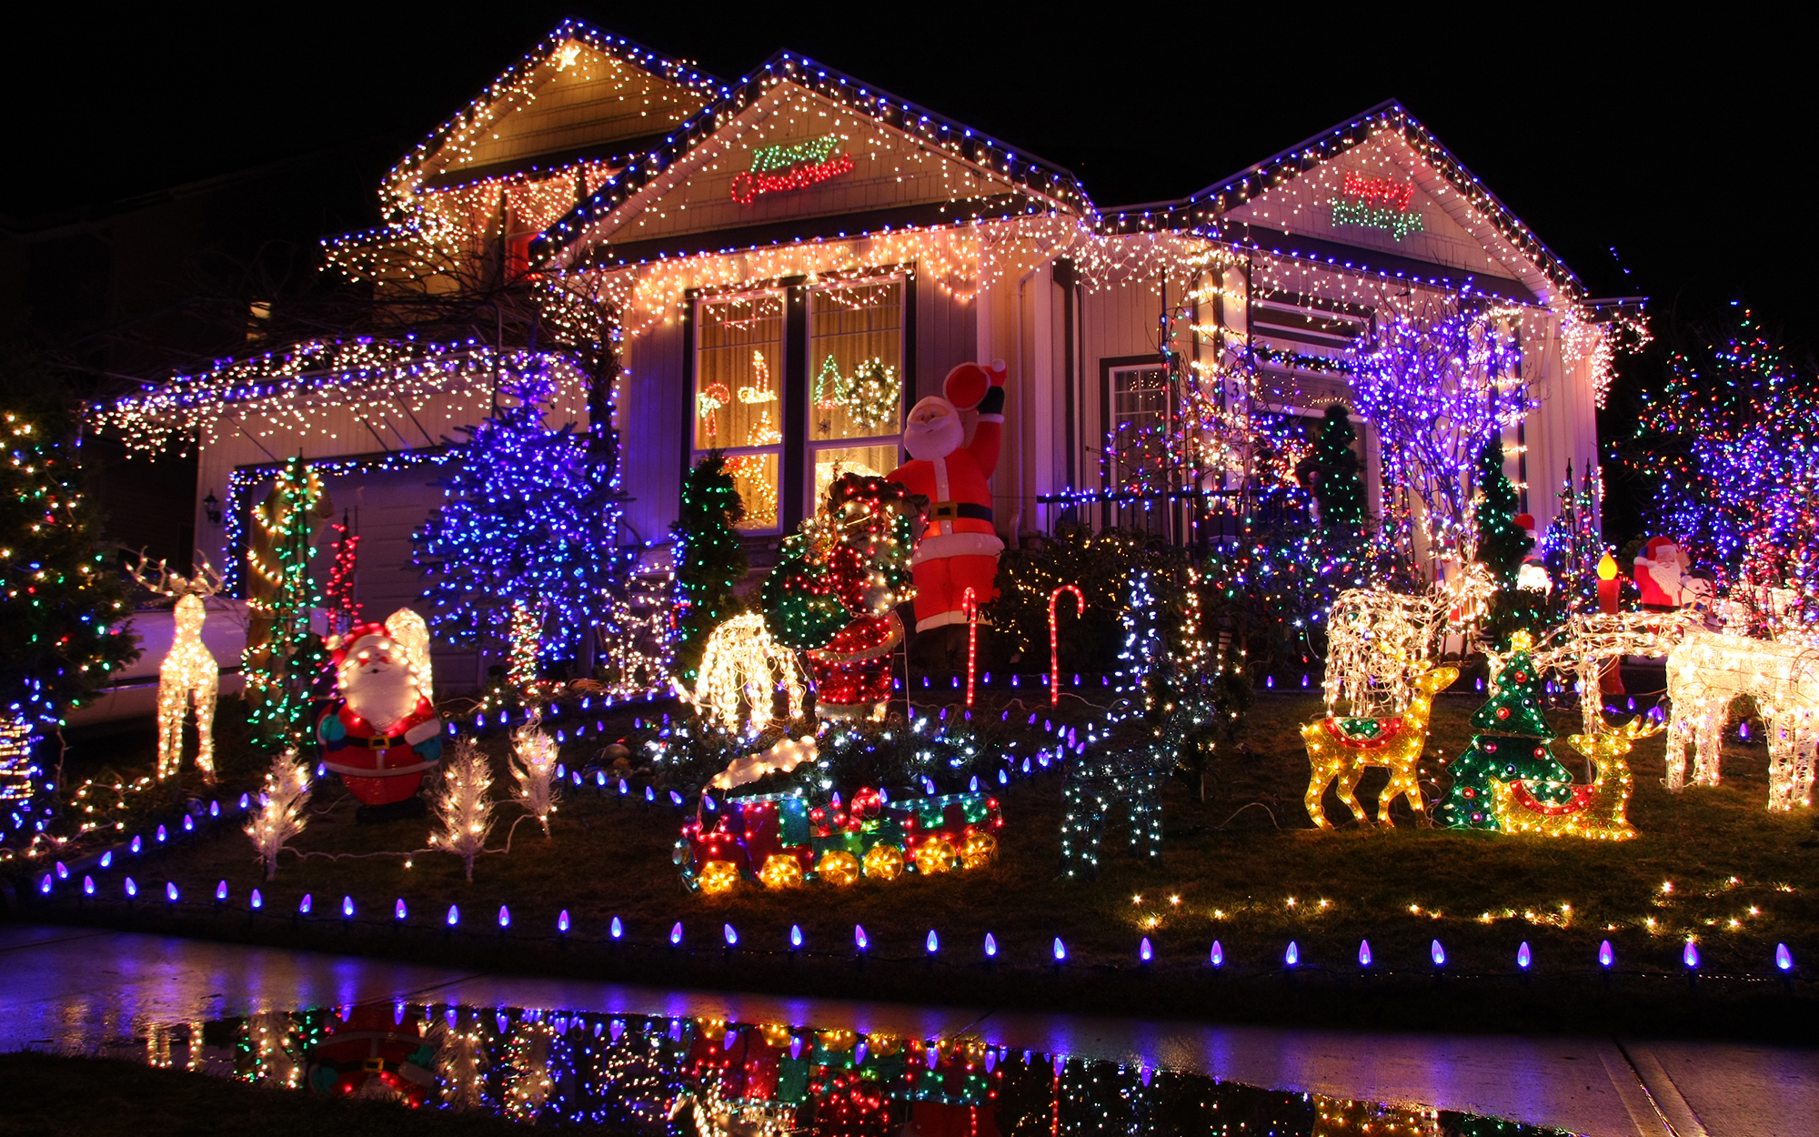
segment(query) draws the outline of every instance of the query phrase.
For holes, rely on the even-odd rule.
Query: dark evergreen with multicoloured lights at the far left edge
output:
[[[29,842],[53,806],[36,753],[42,729],[107,673],[138,657],[124,628],[124,580],[95,549],[69,420],[55,409],[0,413],[0,840]]]

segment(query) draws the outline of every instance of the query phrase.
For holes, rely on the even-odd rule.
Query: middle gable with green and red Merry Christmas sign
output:
[[[620,246],[904,206],[953,206],[964,220],[968,206],[1020,193],[873,113],[779,82],[591,224],[588,240]]]

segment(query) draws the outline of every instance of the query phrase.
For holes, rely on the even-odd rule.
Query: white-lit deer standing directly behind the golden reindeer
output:
[[[1339,593],[1326,613],[1326,713],[1337,715],[1341,704],[1355,717],[1408,709],[1433,668],[1439,639],[1482,619],[1495,591],[1490,569],[1468,564],[1415,595],[1386,588]]]

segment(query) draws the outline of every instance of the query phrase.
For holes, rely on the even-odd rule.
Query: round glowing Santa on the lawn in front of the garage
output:
[[[442,759],[442,720],[429,704],[427,659],[417,659],[415,615],[404,608],[329,640],[340,697],[317,720],[322,764],[367,806],[415,799],[424,771]]]

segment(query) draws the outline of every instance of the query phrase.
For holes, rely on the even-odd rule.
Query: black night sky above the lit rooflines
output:
[[[1794,56],[1806,36],[1735,5],[1699,24],[1668,9],[1648,24],[1508,9],[1468,29],[1459,5],[1395,4],[1197,5],[1251,13],[1242,20],[1095,5],[1115,22],[1031,4],[1017,9],[1051,15],[302,7],[64,4],[9,27],[15,176],[0,211],[93,207],[315,155],[355,202],[322,224],[355,227],[391,158],[573,15],[724,78],[779,47],[806,53],[1073,169],[1100,207],[1182,196],[1399,98],[1595,295],[1648,295],[1657,318],[1741,298],[1790,342],[1815,338],[1814,73]]]

